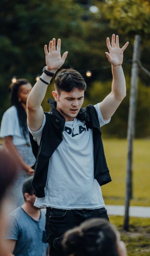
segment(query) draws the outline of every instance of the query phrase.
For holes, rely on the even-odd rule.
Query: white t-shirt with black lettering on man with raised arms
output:
[[[100,103],[95,105],[100,126],[105,123]],[[39,145],[46,121],[37,132],[29,131]],[[94,179],[93,136],[84,121],[65,123],[63,140],[49,161],[45,197],[36,197],[35,206],[59,209],[97,209],[105,206],[101,187]]]

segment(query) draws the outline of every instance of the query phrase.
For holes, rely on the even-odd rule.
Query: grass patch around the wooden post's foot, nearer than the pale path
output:
[[[111,216],[110,222],[121,233],[128,256],[150,256],[150,219],[130,217],[129,232],[123,230],[123,216]]]

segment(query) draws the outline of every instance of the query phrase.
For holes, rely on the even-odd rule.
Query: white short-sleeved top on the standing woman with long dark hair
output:
[[[13,144],[15,146],[24,145],[27,142],[29,145],[31,145],[29,134],[27,133],[27,140],[25,140],[23,134],[21,133],[18,113],[15,106],[7,109],[2,117],[0,137],[4,138],[10,135],[13,136]]]

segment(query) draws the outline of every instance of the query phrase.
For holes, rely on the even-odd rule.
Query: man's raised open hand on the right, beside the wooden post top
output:
[[[122,65],[123,61],[123,52],[127,48],[129,42],[127,42],[121,49],[119,47],[119,37],[116,36],[116,43],[115,43],[115,35],[112,35],[112,41],[110,44],[109,37],[107,37],[107,48],[109,50],[106,53],[107,59],[113,66],[120,66]]]

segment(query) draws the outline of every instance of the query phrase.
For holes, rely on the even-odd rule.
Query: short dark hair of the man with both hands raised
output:
[[[73,92],[76,88],[86,90],[86,82],[82,75],[73,68],[62,69],[55,77],[55,90],[60,96],[61,91]]]

